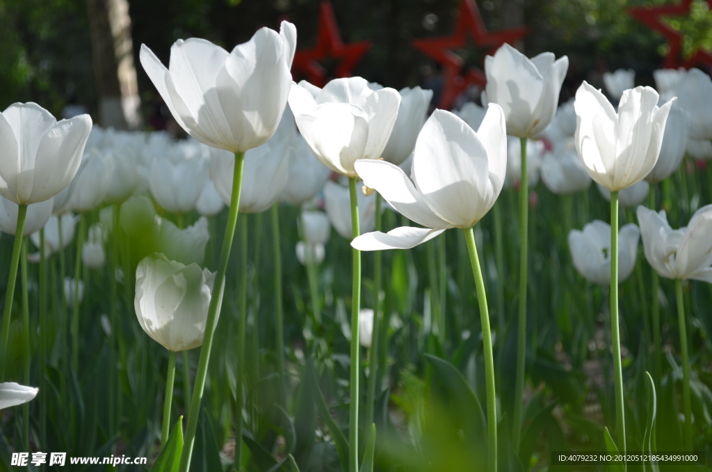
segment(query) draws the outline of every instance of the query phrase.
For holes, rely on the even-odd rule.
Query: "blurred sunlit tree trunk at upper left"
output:
[[[141,125],[127,0],[87,0],[99,123],[126,130]]]

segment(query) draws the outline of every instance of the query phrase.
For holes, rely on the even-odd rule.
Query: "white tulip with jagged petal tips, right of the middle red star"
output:
[[[507,43],[486,56],[487,98],[502,107],[507,134],[533,138],[549,125],[568,67],[566,56],[554,61],[553,53],[541,53],[529,59]]]

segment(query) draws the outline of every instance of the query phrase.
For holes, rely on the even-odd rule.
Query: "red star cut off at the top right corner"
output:
[[[628,9],[628,14],[634,19],[637,19],[645,26],[648,26],[654,31],[658,31],[667,40],[669,51],[665,56],[663,66],[665,68],[677,68],[684,66],[686,68],[695,66],[700,63],[706,63],[712,66],[712,53],[698,49],[687,61],[681,61],[680,51],[682,48],[683,34],[677,31],[669,24],[666,24],[661,16],[682,16],[690,13],[692,0],[682,0],[681,3],[675,5],[661,6],[637,6]],[[712,7],[712,0],[707,0],[707,4]]]

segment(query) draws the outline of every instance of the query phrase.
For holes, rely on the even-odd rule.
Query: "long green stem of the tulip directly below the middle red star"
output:
[[[529,185],[527,174],[527,138],[520,138],[522,176],[519,186],[519,323],[517,332],[517,376],[514,386],[512,446],[519,451],[524,394],[524,366],[527,345],[527,257],[529,228]]]

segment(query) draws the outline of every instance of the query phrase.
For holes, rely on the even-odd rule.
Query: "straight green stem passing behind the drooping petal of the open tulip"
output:
[[[360,235],[356,178],[349,178],[351,197],[351,234]],[[359,400],[359,325],[358,314],[361,302],[361,252],[352,249],[353,278],[351,294],[351,399],[349,405],[349,471],[358,472],[358,400]]]

